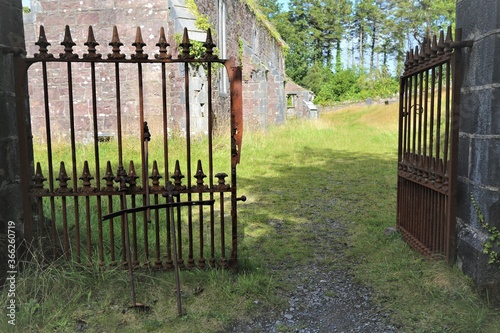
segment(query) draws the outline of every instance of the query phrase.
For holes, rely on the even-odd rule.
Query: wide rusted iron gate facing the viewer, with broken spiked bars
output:
[[[127,265],[125,221],[131,224],[130,248],[135,267],[151,267],[156,269],[173,269],[173,244],[177,243],[179,266],[188,268],[206,266],[222,266],[235,268],[237,266],[237,197],[236,166],[240,159],[242,139],[242,91],[241,68],[234,61],[218,59],[214,55],[215,44],[210,31],[204,43],[206,52],[195,59],[190,55],[191,43],[184,31],[184,38],[177,59],[169,54],[169,44],[166,41],[163,28],[160,31],[159,48],[154,59],[148,57],[143,49],[141,30],[137,28],[135,53],[127,58],[121,53],[116,27],[113,29],[112,40],[109,43],[112,51],[101,56],[96,50],[99,44],[94,38],[92,27],[89,27],[87,53],[80,57],[73,52],[75,43],[71,38],[69,27],[66,27],[64,53],[56,57],[49,53],[47,38],[43,26],[40,27],[38,42],[39,53],[33,58],[18,56],[15,59],[15,76],[17,91],[17,114],[20,131],[20,146],[22,152],[22,186],[24,200],[25,238],[45,246],[44,252],[53,258],[64,257],[82,264],[98,263],[99,265]],[[26,126],[26,105],[24,91],[28,84],[28,69],[35,63],[41,64],[42,85],[35,89],[43,90],[43,114],[45,119],[46,156],[30,162],[31,144],[29,125]],[[56,161],[54,152],[53,123],[57,118],[51,107],[49,80],[51,68],[49,64],[59,63],[65,76],[65,86],[68,93],[68,110],[70,123],[69,139],[66,145],[70,148],[67,160]],[[78,147],[77,128],[74,121],[75,77],[73,70],[79,63],[87,70],[90,77],[91,96],[88,99],[89,121],[91,124],[92,160],[82,158]],[[213,73],[212,65],[225,66],[230,81],[230,134],[226,161],[230,167],[230,179],[223,170],[214,170],[214,107],[212,97]],[[82,65],[83,64],[83,65]],[[144,109],[144,82],[142,70],[145,66],[156,64],[161,67],[157,76],[158,94],[161,95],[162,111],[160,133],[150,133]],[[185,137],[183,138],[184,157],[182,161],[172,160],[171,137],[167,131],[172,116],[168,114],[167,86],[168,66],[177,64],[184,70],[184,87],[177,98],[184,95],[185,104]],[[189,72],[194,64],[204,65],[208,85],[208,128],[205,144],[206,160],[193,163],[194,153],[190,125],[193,119],[190,114]],[[96,79],[96,66],[105,66],[108,73],[114,75],[114,93],[116,106],[116,140],[102,142],[100,137],[99,97],[102,93]],[[124,79],[120,78],[123,66],[135,66],[138,85],[139,103],[136,106],[134,124],[127,126],[135,129],[136,147],[140,153],[130,153],[123,146],[127,134],[123,130],[123,96]],[[53,75],[53,74],[52,74]],[[130,82],[128,83],[130,84]],[[109,93],[109,92],[108,92]],[[156,124],[158,125],[158,124]],[[148,160],[148,143],[152,136],[161,140],[161,159],[152,165]],[[130,134],[128,135],[130,136]],[[132,136],[134,136],[132,134]],[[105,138],[107,141],[109,138]],[[103,144],[114,145],[114,160],[103,156]],[[158,152],[157,152],[158,153]],[[131,155],[131,156],[130,156]],[[139,168],[136,172],[134,158],[137,164],[140,155]],[[130,162],[128,162],[130,161]],[[127,171],[128,170],[128,171]],[[205,175],[205,171],[208,174]],[[184,175],[183,172],[186,174]],[[217,172],[217,173],[216,173]],[[208,178],[205,181],[204,178]],[[162,183],[163,178],[163,185]],[[169,180],[171,179],[171,181]],[[184,179],[185,178],[185,179]],[[163,199],[163,197],[165,199]],[[229,197],[229,198],[228,198]],[[173,199],[173,200],[172,200]],[[229,200],[228,200],[229,199]],[[173,202],[172,202],[173,201]],[[230,202],[229,202],[230,201]],[[230,209],[230,222],[226,221],[225,211]],[[174,216],[172,216],[174,215]],[[168,221],[176,221],[177,239],[172,239],[172,230]],[[128,225],[128,223],[127,223]],[[36,231],[36,232],[35,232]],[[36,238],[33,238],[36,235]],[[197,236],[197,237],[196,237]],[[177,242],[175,242],[177,240]],[[49,244],[47,246],[47,244]],[[187,255],[185,253],[187,252]],[[185,262],[185,259],[186,262]]]

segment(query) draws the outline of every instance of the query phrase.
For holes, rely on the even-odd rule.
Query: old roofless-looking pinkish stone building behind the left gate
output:
[[[262,128],[268,124],[282,123],[286,117],[285,76],[284,76],[284,42],[273,30],[262,14],[251,4],[245,1],[228,0],[32,0],[31,13],[25,14],[25,35],[28,55],[38,52],[35,42],[38,39],[40,26],[44,26],[47,40],[52,44],[49,52],[58,55],[63,51],[60,42],[64,38],[65,26],[70,26],[71,36],[76,46],[74,53],[80,56],[87,52],[83,45],[87,39],[89,26],[97,42],[97,52],[103,57],[110,52],[108,43],[112,37],[113,26],[117,26],[120,41],[124,44],[121,51],[127,54],[134,52],[132,43],[136,37],[137,27],[141,28],[142,37],[146,44],[145,52],[149,57],[158,53],[155,44],[158,42],[161,27],[164,27],[169,48],[173,57],[178,55],[178,44],[184,28],[188,29],[191,41],[204,42],[206,31],[200,29],[210,27],[213,32],[214,42],[217,45],[219,57],[233,58],[236,65],[243,67],[243,112],[246,128]],[[201,23],[200,23],[201,22]],[[83,66],[83,65],[82,65]],[[34,66],[30,69],[30,82],[40,80],[37,75],[42,69]],[[54,71],[54,69],[52,69]],[[123,70],[123,69],[121,69]],[[57,69],[56,69],[57,71]],[[148,72],[149,71],[149,72]],[[143,73],[145,96],[146,120],[150,124],[161,123],[161,96],[157,89],[158,82],[155,72],[158,68],[147,69]],[[61,69],[64,73],[64,69]],[[104,67],[97,68],[97,82],[99,92],[99,128],[100,135],[113,136],[116,118],[116,102],[113,94],[113,73]],[[91,80],[88,70],[83,67],[73,69],[76,85],[73,94],[75,103],[75,126],[79,130],[78,137],[85,140],[91,135],[90,126],[90,90]],[[54,75],[49,82],[49,96],[51,110],[57,110],[60,119],[60,131],[56,131],[62,138],[67,135],[68,128],[68,93],[63,82],[65,74]],[[122,75],[123,76],[123,75]],[[122,99],[123,115],[125,119],[136,118],[138,94],[137,73],[130,69],[125,75],[124,82],[126,93]],[[169,131],[185,131],[184,95],[182,93],[184,82],[184,69],[182,66],[171,66],[168,73],[169,85],[169,113],[172,119],[172,128]],[[192,91],[190,103],[192,119],[192,132],[201,132],[206,128],[206,73],[203,68],[192,68],[190,71]],[[222,66],[214,75],[216,103],[215,114],[218,122],[223,123],[229,116],[228,112],[228,82],[227,75]],[[123,81],[123,79],[122,79]],[[39,83],[40,84],[40,83]],[[58,85],[59,87],[56,87]],[[36,86],[35,84],[33,86]],[[61,88],[62,87],[62,88]],[[109,96],[109,97],[108,97]],[[30,108],[35,138],[44,139],[43,122],[43,95],[38,89],[30,91]],[[125,124],[130,123],[125,121]],[[58,128],[57,124],[53,124]],[[127,126],[127,125],[125,125]],[[125,128],[127,130],[127,128]],[[39,133],[38,133],[38,132]],[[130,129],[130,132],[133,130]]]

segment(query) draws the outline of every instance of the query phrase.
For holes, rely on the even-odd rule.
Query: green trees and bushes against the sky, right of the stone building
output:
[[[258,2],[290,47],[287,75],[323,103],[397,92],[406,51],[453,25],[456,6],[455,0],[288,0],[284,10],[274,0]]]

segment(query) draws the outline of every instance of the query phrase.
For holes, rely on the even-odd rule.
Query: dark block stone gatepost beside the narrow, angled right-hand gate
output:
[[[463,84],[458,166],[457,261],[493,303],[500,304],[500,264],[483,253],[491,235],[480,216],[500,229],[500,2],[458,0]],[[477,203],[475,207],[474,202]]]

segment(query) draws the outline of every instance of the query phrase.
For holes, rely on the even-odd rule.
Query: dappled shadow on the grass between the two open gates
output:
[[[380,235],[395,224],[392,154],[303,147],[257,162],[242,167],[238,178],[239,192],[249,198],[238,208],[240,262],[259,254],[271,267],[311,260],[318,229],[332,222],[340,244],[351,223]]]

